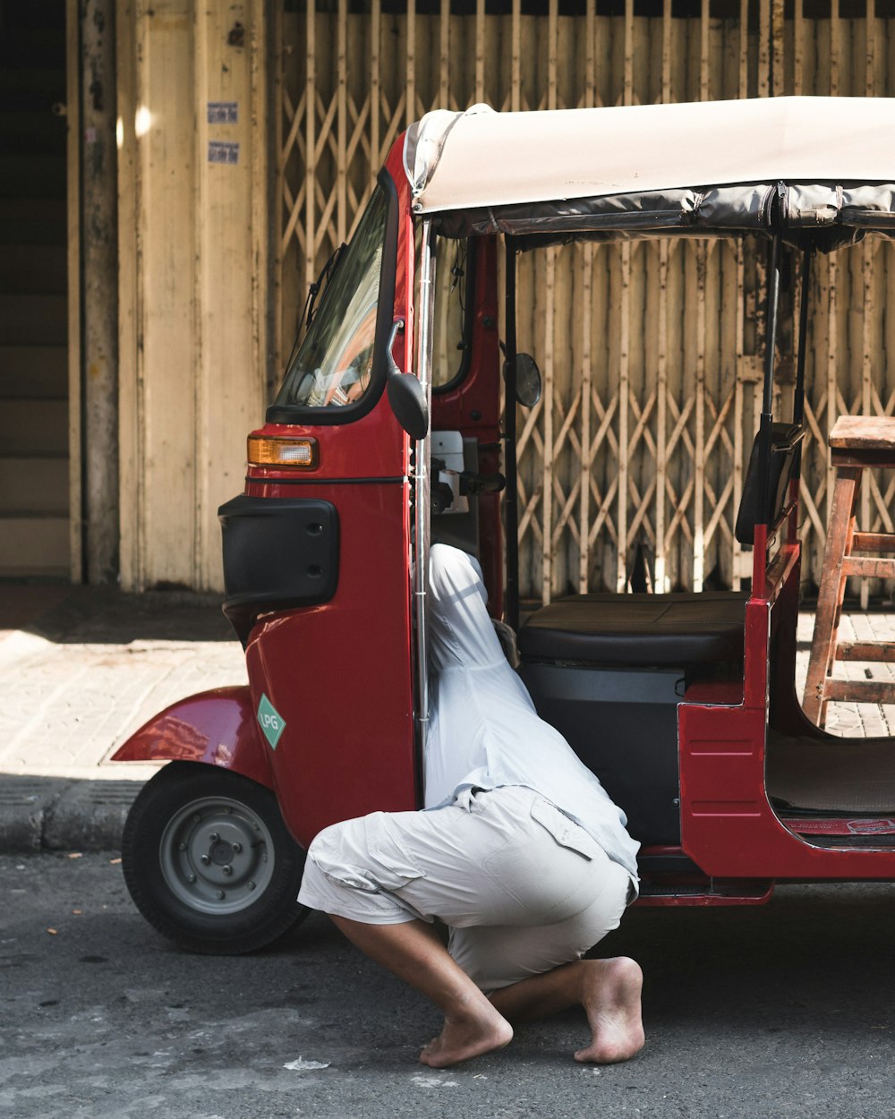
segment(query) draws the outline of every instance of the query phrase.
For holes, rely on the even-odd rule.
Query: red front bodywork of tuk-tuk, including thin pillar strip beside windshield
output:
[[[398,191],[395,360],[413,368],[414,235],[409,186]],[[398,152],[399,154],[399,152]],[[339,581],[331,601],[262,619],[246,649],[249,686],[285,722],[265,750],[286,826],[305,846],[337,820],[417,807],[409,538],[409,440],[385,393],[352,423],[290,427],[320,443],[317,470],[252,468],[245,492],[331,501],[339,515]],[[296,481],[299,483],[296,485]]]

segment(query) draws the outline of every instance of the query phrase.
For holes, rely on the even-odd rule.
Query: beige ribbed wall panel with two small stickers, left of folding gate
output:
[[[238,25],[238,26],[237,26]],[[241,30],[242,28],[242,30]],[[267,364],[262,0],[117,9],[121,579],[223,586]],[[208,103],[235,103],[209,123]],[[209,144],[235,162],[216,162]]]

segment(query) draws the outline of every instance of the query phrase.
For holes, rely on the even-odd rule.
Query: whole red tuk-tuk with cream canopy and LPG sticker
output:
[[[827,734],[794,686],[804,294],[816,252],[892,235],[895,156],[880,138],[893,125],[882,98],[477,106],[431,113],[396,141],[248,436],[245,491],[219,510],[224,611],[248,686],[175,704],[115,755],[170,760],[123,840],[129,888],[157,929],[199,951],[258,948],[301,918],[303,850],[322,827],[422,803],[433,539],[478,555],[538,712],[626,812],[639,904],[895,878],[895,742]],[[519,626],[517,402],[540,387],[516,347],[517,257],[642,237],[769,246],[761,424],[736,521],[751,589],[577,594]],[[433,370],[442,238],[464,244],[469,281],[447,377]],[[793,254],[795,386],[775,417]],[[845,826],[856,820],[867,826]]]

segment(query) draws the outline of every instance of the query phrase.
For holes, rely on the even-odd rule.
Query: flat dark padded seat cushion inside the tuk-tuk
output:
[[[742,660],[745,593],[574,594],[519,630],[525,660],[686,666]]]

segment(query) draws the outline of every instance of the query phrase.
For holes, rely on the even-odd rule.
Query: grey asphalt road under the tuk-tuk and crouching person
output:
[[[647,974],[639,1057],[577,1065],[569,1012],[435,1072],[416,1054],[437,1013],[324,918],[257,956],[189,956],[143,922],[112,858],[0,858],[3,1116],[895,1116],[892,886],[632,910],[603,948]]]

